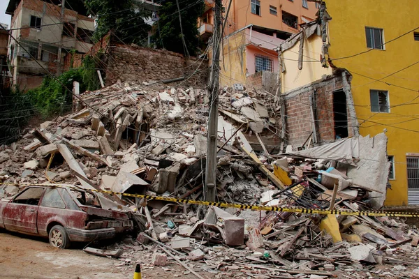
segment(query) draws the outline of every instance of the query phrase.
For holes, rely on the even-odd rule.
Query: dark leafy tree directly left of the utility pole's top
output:
[[[204,1],[178,0],[182,19],[182,31],[186,49],[190,55],[198,50],[198,17],[203,14]],[[156,28],[157,27],[157,28]],[[179,9],[176,0],[161,1],[159,22],[154,24],[154,41],[157,47],[163,47],[172,52],[184,53],[182,31],[179,21]]]

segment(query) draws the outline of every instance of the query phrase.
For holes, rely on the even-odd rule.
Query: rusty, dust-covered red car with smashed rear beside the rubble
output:
[[[127,213],[102,209],[94,192],[74,187],[28,186],[0,200],[0,228],[47,236],[52,246],[111,239],[133,229]]]

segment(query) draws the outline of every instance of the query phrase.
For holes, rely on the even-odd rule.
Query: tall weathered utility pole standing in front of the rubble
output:
[[[218,129],[218,94],[220,79],[221,0],[215,0],[215,24],[212,36],[212,66],[208,93],[210,94],[210,116],[208,119],[207,167],[205,175],[205,200],[215,202],[216,198],[216,140]]]

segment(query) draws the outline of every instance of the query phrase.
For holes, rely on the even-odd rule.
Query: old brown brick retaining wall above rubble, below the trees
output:
[[[94,56],[98,52],[104,54],[102,62],[97,67],[104,69],[102,75],[106,86],[118,80],[139,83],[189,77],[192,74],[191,78],[180,82],[185,86],[205,86],[209,73],[207,61],[201,63],[194,57],[186,61],[182,54],[175,52],[117,43],[110,33],[91,47],[86,54],[67,54],[64,68],[68,70],[80,67],[84,56]]]

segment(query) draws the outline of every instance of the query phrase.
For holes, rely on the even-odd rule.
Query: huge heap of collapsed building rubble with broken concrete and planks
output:
[[[419,231],[401,218],[224,210],[120,195],[203,200],[210,102],[204,90],[119,82],[75,101],[77,111],[1,146],[0,197],[34,183],[118,193],[98,195],[101,206],[136,216],[135,238],[86,249],[120,257],[118,269],[137,261],[164,267],[174,259],[187,272],[217,278],[355,278],[360,272],[406,276],[405,266],[416,264]],[[304,150],[288,146],[279,154],[278,107],[264,91],[226,88],[220,94],[219,201],[381,208],[389,168],[385,134]]]

